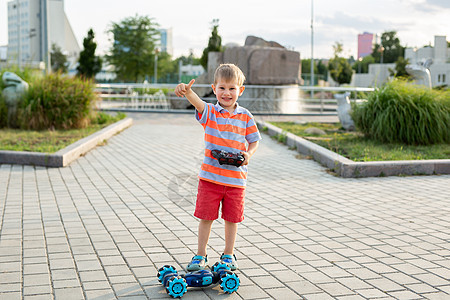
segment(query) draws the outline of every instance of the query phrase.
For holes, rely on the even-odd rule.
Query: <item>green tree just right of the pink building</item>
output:
[[[405,47],[400,45],[397,31],[386,31],[381,34],[381,44],[375,44],[372,56],[377,63],[394,63],[404,56]]]

